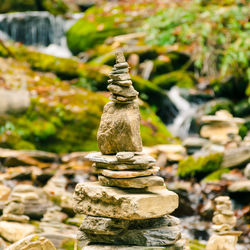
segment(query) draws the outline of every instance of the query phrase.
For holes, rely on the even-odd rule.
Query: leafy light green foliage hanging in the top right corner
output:
[[[234,75],[247,77],[249,81],[246,74],[250,56],[248,17],[248,6],[237,5],[235,1],[227,6],[211,1],[204,6],[191,1],[150,17],[144,30],[149,44],[170,48],[175,45],[188,51],[201,75]]]

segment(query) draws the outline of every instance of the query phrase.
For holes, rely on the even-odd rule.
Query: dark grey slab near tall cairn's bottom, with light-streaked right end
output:
[[[181,238],[179,226],[162,226],[150,229],[129,229],[113,235],[100,235],[95,233],[84,234],[92,243],[106,243],[114,245],[136,246],[166,246],[175,244]]]

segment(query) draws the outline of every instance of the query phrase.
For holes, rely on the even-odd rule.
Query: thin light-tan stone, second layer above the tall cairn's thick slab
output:
[[[134,178],[139,176],[148,176],[156,174],[159,171],[159,167],[152,167],[146,170],[135,170],[135,171],[115,171],[104,169],[102,175],[110,178]]]

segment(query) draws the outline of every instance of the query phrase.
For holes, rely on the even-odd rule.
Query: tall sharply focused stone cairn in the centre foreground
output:
[[[86,250],[183,249],[179,219],[169,215],[178,207],[178,196],[154,175],[155,159],[142,153],[138,92],[128,69],[118,51],[108,85],[111,101],[97,135],[101,152],[87,156],[98,182],[75,188],[74,209],[86,215],[78,240]]]

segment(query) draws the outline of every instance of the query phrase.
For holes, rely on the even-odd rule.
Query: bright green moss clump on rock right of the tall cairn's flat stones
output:
[[[202,178],[218,170],[221,166],[222,158],[222,153],[213,153],[199,157],[189,156],[185,160],[180,161],[177,174],[182,178]]]

